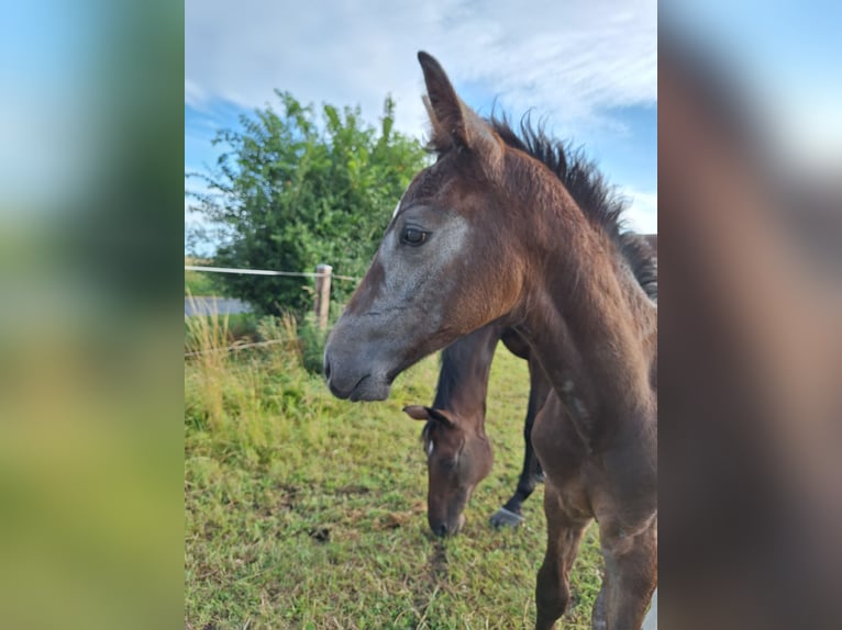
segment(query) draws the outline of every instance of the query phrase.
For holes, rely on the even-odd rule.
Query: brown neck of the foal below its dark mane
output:
[[[612,429],[655,417],[657,311],[561,183],[535,196],[545,199],[523,205],[532,216],[521,225],[530,266],[543,272],[527,282],[520,327],[579,435],[598,447]]]

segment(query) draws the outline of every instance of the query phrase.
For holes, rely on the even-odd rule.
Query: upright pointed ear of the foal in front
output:
[[[502,148],[491,127],[456,95],[441,64],[423,50],[418,60],[424,72],[424,105],[433,125],[433,147],[445,151],[453,147],[469,148],[497,164]]]

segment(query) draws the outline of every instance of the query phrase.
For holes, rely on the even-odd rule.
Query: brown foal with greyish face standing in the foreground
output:
[[[640,274],[650,260],[622,238],[622,205],[589,162],[483,121],[435,59],[419,60],[439,159],[407,189],[331,334],[329,386],[384,400],[426,355],[492,322],[517,327],[553,389],[532,434],[549,537],[536,628],[564,612],[596,518],[606,575],[595,625],[638,629],[657,581],[657,306]]]

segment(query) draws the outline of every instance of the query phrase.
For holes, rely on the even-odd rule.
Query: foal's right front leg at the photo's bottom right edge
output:
[[[603,531],[607,530],[607,531]],[[600,528],[606,560],[606,628],[640,630],[657,585],[657,524],[631,537]]]

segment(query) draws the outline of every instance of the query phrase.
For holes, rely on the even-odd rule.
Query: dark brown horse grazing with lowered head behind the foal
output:
[[[411,418],[426,423],[421,434],[429,482],[426,518],[436,536],[458,532],[474,488],[491,471],[494,452],[485,432],[486,395],[491,360],[500,340],[513,355],[529,360],[529,346],[520,335],[506,326],[490,324],[444,349],[432,407],[410,405],[403,408]],[[514,494],[491,516],[495,527],[522,524],[521,506],[536,483],[543,481],[531,432],[550,384],[541,368],[532,361],[530,383],[523,427],[523,469]]]

